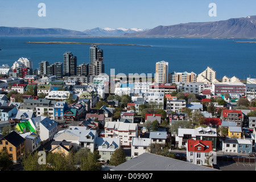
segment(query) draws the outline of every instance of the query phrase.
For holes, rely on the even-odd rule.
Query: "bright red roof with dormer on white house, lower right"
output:
[[[212,151],[212,140],[188,140],[189,152],[210,152]],[[201,147],[200,148],[198,147]]]

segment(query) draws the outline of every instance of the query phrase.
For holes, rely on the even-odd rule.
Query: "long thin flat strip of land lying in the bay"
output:
[[[109,45],[109,46],[143,46],[143,47],[152,47],[144,46],[137,44],[112,44],[112,43],[85,43],[85,42],[25,42],[25,44],[81,44],[81,45]]]

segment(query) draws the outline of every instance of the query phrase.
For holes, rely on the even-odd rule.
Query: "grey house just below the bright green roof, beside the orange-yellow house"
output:
[[[40,144],[41,139],[39,138],[39,135],[35,134],[34,132],[27,132],[19,135],[24,139],[26,139],[25,141],[26,152],[32,153],[41,146]]]

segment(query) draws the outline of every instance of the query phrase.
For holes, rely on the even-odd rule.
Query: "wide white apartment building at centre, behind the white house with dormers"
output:
[[[121,147],[131,147],[133,137],[138,137],[137,123],[106,122],[105,137],[120,138]]]

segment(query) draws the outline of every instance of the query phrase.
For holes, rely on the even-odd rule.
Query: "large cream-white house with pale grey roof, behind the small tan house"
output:
[[[55,137],[55,141],[63,141],[72,142],[74,150],[79,148],[89,148],[91,152],[94,151],[95,148],[95,140],[98,137],[98,134],[95,130],[61,130],[59,131]]]

